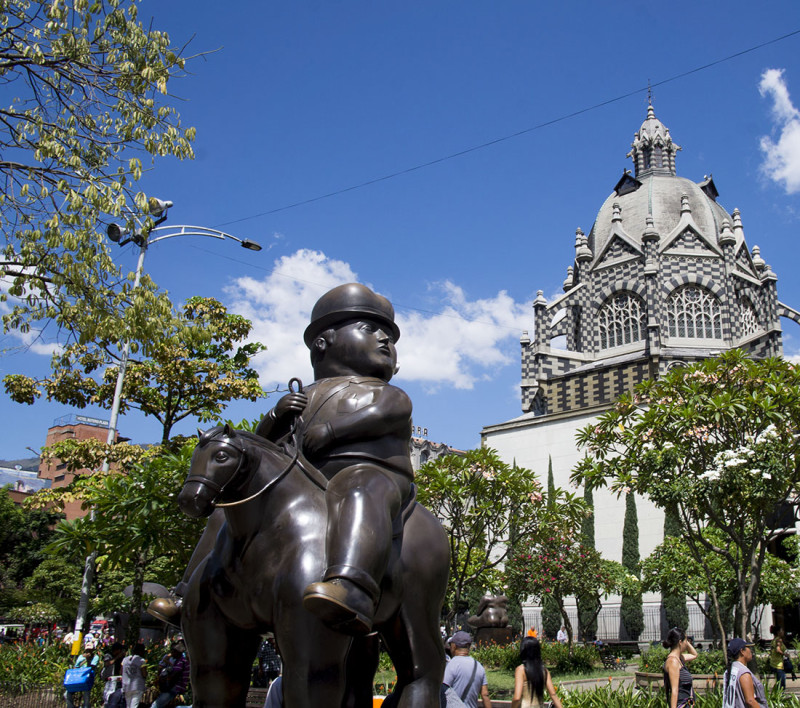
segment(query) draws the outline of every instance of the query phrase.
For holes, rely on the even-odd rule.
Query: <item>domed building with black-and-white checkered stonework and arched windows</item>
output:
[[[778,301],[777,277],[758,246],[748,247],[739,210],[718,202],[711,176],[678,176],[680,149],[649,105],[628,153],[633,169],[589,234],[576,231],[564,294],[548,302],[540,290],[533,303],[534,334],[521,339],[523,415],[482,431],[484,445],[540,477],[552,460],[560,487],[582,455],[576,431],[621,394],[726,349],[779,356],[780,318],[800,323]],[[600,491],[594,502],[597,548],[620,560],[624,500]],[[663,538],[663,514],[646,499],[637,509],[645,557]],[[704,622],[694,610],[689,633],[698,638]],[[616,639],[613,598],[603,613],[598,633]],[[641,641],[661,638],[656,595],[645,596],[645,624]]]

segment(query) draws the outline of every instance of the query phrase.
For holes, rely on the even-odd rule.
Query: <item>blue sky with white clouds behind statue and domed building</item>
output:
[[[539,289],[561,292],[575,229],[588,233],[630,167],[648,81],[683,148],[678,174],[713,172],[720,203],[741,210],[748,244],[776,272],[780,299],[800,308],[800,35],[693,72],[800,29],[795,0],[145,0],[140,18],[151,17],[188,42],[187,55],[207,53],[170,83],[184,125],[197,128],[197,157],[158,162],[143,188],[175,203],[169,224],[220,228],[264,250],[173,239],[151,249],[146,268],[176,301],[214,296],[254,320],[269,347],[257,361],[266,389],[310,380],[308,311],[358,279],[395,304],[396,382],[432,440],[475,447],[483,425],[518,415],[531,302]],[[781,73],[764,79],[770,69]],[[129,247],[118,255],[134,267]],[[797,354],[800,331],[784,329]],[[44,370],[47,357],[14,344],[3,338],[0,375]],[[275,400],[228,414],[255,418]],[[72,412],[5,399],[0,410],[6,459],[39,448]],[[134,414],[120,431],[158,436]]]

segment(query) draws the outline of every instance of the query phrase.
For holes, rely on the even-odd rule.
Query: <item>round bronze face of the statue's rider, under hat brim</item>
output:
[[[389,328],[376,320],[348,320],[328,343],[325,358],[359,376],[388,381],[397,367],[397,350]]]

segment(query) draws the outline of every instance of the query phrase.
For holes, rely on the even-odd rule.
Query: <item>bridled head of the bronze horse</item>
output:
[[[252,475],[252,461],[242,436],[230,426],[197,431],[189,476],[178,495],[184,514],[209,516],[219,502],[234,499]]]

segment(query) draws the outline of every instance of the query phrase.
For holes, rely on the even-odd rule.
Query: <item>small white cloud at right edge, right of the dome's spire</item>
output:
[[[761,170],[782,184],[787,194],[800,192],[800,111],[789,96],[783,69],[767,69],[761,75],[758,90],[772,99],[773,135],[777,136],[761,138]]]

